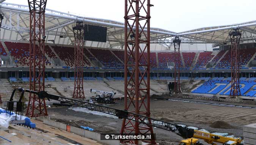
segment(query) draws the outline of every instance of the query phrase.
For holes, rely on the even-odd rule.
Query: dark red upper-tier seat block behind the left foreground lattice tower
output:
[[[29,43],[5,42],[5,45],[14,58],[14,62],[22,66],[29,65]],[[36,48],[38,48],[37,45]],[[51,65],[51,63],[46,59],[46,66],[47,65]]]

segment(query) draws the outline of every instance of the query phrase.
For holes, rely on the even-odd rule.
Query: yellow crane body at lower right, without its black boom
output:
[[[235,139],[232,137],[223,137],[203,131],[195,130],[193,138],[181,140],[179,145],[203,145],[199,142],[199,139],[203,139],[210,145],[217,145],[216,143],[222,143],[223,145],[243,145],[241,139]]]

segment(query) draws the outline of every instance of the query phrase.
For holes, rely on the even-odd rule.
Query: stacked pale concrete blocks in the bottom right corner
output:
[[[243,126],[243,145],[256,145],[256,123]]]

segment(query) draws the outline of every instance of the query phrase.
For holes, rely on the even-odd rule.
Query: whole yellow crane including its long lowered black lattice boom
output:
[[[216,143],[222,143],[223,145],[243,145],[243,143],[242,143],[243,140],[241,140],[241,139],[235,139],[235,138],[231,138],[231,137],[223,137],[223,136],[218,136],[215,134],[206,133],[203,131],[197,131],[197,130],[194,130],[191,128],[176,125],[174,123],[169,123],[169,122],[154,119],[151,117],[142,116],[140,114],[131,113],[126,110],[119,110],[119,109],[111,108],[108,106],[103,106],[103,105],[99,105],[99,104],[95,104],[95,103],[86,102],[83,100],[75,100],[75,99],[68,98],[68,97],[62,97],[62,96],[57,96],[57,95],[53,95],[53,94],[48,94],[46,91],[37,92],[37,91],[31,91],[29,89],[23,89],[23,88],[19,88],[17,90],[20,92],[36,94],[40,99],[48,99],[49,101],[50,101],[50,99],[57,100],[60,102],[87,108],[90,110],[110,114],[110,115],[118,117],[119,119],[125,118],[125,119],[132,120],[135,122],[143,123],[145,125],[150,125],[150,126],[153,126],[156,128],[160,128],[162,130],[171,131],[171,132],[181,136],[183,139],[185,139],[185,140],[181,140],[179,145],[203,145],[203,143],[199,142],[199,139],[204,140],[205,142],[209,143],[210,145],[217,145]],[[141,119],[136,120],[134,116],[138,116]]]

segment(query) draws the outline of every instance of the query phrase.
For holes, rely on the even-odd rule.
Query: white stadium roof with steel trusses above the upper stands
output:
[[[0,3],[4,0],[0,0]],[[4,14],[1,39],[25,40],[29,37],[29,9],[26,5],[1,3],[0,10]],[[102,48],[121,48],[124,43],[124,23],[114,20],[83,17],[64,12],[46,9],[46,40],[55,40],[57,44],[72,44],[74,34],[72,24],[83,21],[85,24],[107,27],[107,42],[89,42],[86,46]],[[232,28],[242,30],[242,42],[253,42],[256,39],[256,21],[224,26],[212,26],[184,32],[174,32],[161,28],[151,28],[151,43],[160,43],[167,49],[172,46],[172,39],[178,35],[182,43],[209,43],[218,46],[229,43],[228,32]],[[61,36],[61,37],[60,37]],[[63,37],[62,37],[63,36]],[[48,43],[48,42],[47,42]]]

